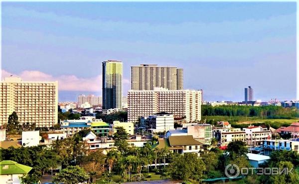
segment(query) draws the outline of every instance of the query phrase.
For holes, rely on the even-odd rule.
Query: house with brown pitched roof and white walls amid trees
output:
[[[195,153],[199,156],[202,145],[202,143],[194,140],[193,136],[169,136],[167,139],[159,139],[158,143],[152,146],[152,149],[166,148],[174,153]]]

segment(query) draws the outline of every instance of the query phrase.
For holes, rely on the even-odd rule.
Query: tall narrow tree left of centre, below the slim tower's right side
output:
[[[127,153],[128,151],[128,133],[123,127],[117,127],[114,134],[115,146],[121,153]]]

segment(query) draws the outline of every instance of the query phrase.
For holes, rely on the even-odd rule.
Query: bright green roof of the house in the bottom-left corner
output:
[[[0,162],[0,175],[28,174],[31,170],[32,168],[29,166],[21,165],[10,160]]]

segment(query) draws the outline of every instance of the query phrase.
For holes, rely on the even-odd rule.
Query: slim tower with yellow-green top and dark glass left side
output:
[[[123,63],[117,60],[103,62],[103,109],[122,109]]]

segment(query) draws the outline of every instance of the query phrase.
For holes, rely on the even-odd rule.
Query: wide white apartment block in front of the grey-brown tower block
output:
[[[201,90],[130,90],[128,92],[128,122],[142,116],[166,112],[187,122],[201,120]]]

